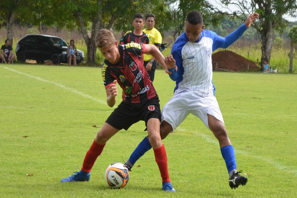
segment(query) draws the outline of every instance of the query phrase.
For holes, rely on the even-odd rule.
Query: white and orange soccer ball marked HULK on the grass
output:
[[[122,188],[129,181],[129,170],[120,162],[112,163],[105,170],[105,180],[112,188]]]

